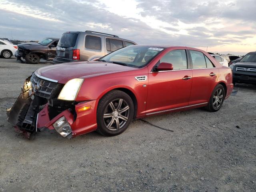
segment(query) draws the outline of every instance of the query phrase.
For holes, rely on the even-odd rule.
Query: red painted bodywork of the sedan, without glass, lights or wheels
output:
[[[215,65],[215,68],[170,70],[152,72],[152,69],[166,53],[176,49],[197,50],[203,52]],[[76,119],[68,110],[54,119],[48,117],[48,106],[38,114],[38,127],[53,129],[52,124],[65,116],[72,128],[72,135],[78,136],[96,130],[96,112],[99,100],[114,89],[127,90],[134,94],[137,102],[137,118],[153,113],[181,111],[206,106],[213,89],[219,83],[226,87],[226,98],[232,92],[232,72],[230,68],[219,64],[208,53],[195,48],[168,47],[158,54],[147,66],[132,68],[106,62],[77,62],[57,64],[37,70],[41,76],[58,80],[65,84],[72,78],[84,78],[76,97]],[[214,76],[210,76],[215,73]],[[145,81],[135,77],[147,76]],[[184,80],[184,77],[191,79]],[[89,110],[78,112],[84,106]]]

